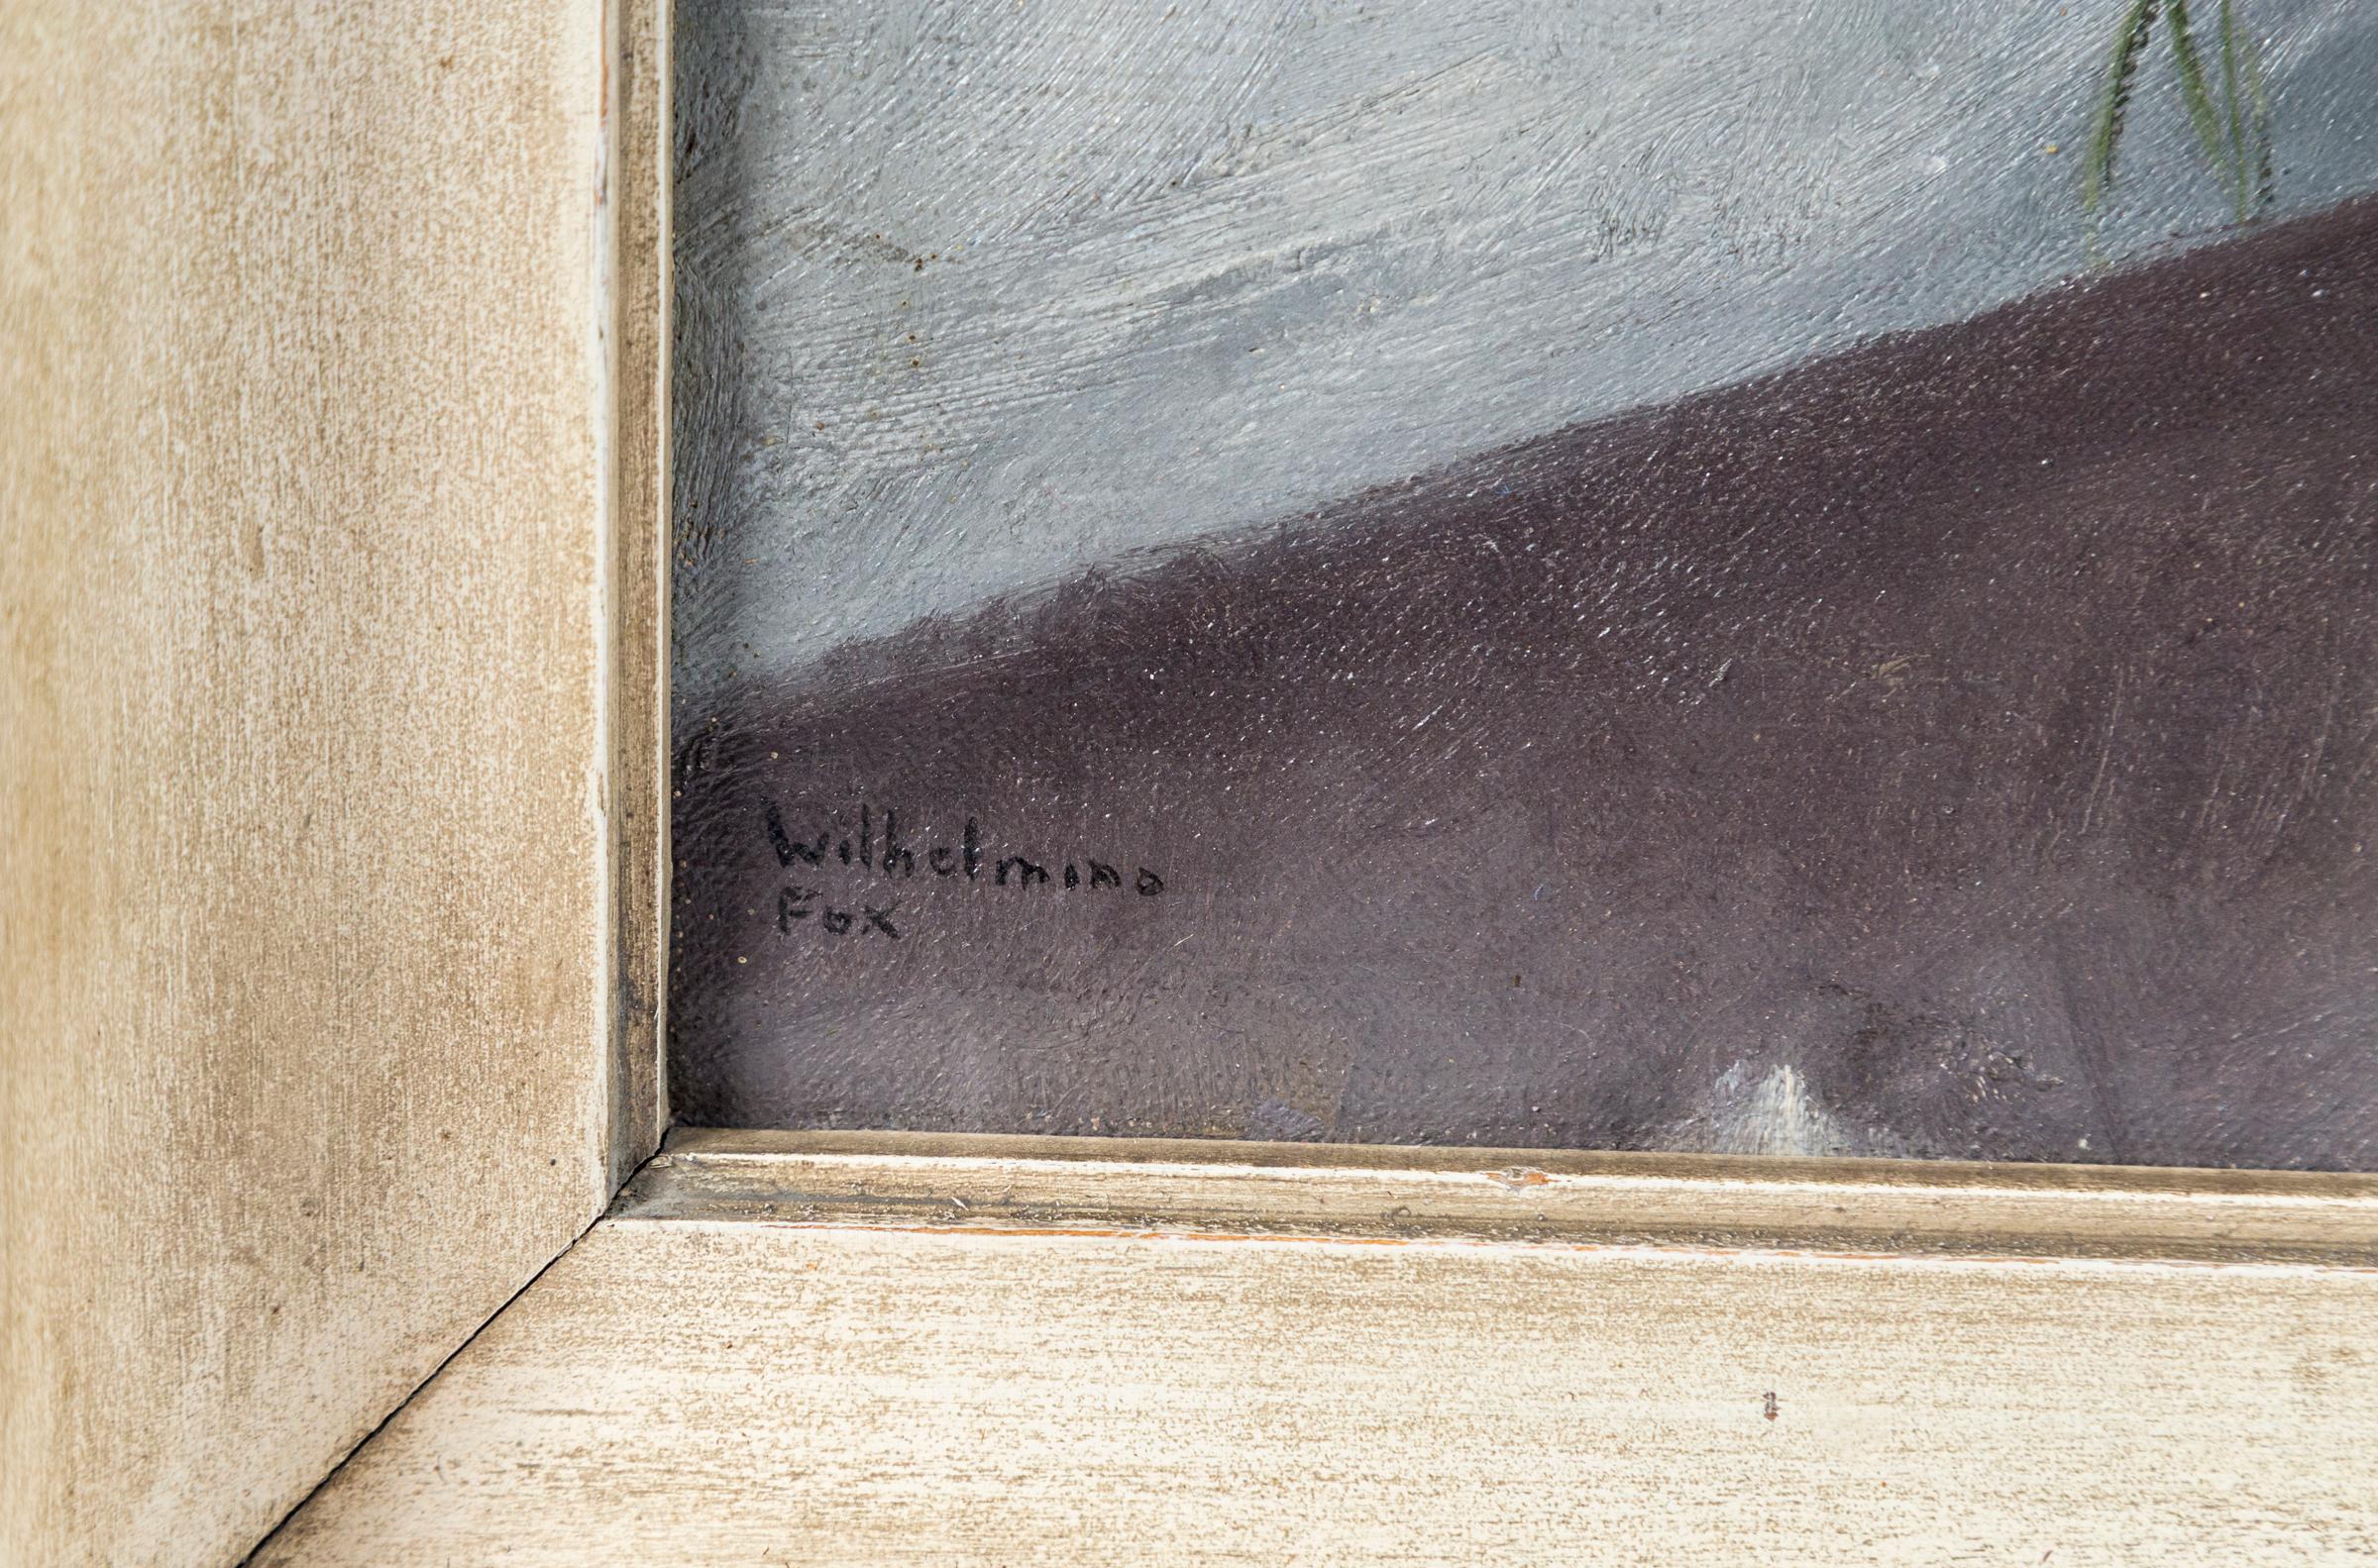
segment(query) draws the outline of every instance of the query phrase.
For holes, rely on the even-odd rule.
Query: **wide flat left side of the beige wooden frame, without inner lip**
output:
[[[609,1190],[604,29],[0,7],[5,1563],[240,1556]]]

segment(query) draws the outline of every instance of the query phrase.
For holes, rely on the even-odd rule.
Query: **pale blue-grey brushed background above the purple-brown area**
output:
[[[690,0],[678,722],[2074,273],[2116,12]],[[2368,190],[2378,7],[2245,14],[2278,209]],[[2226,216],[2162,40],[2116,197],[2114,254]]]

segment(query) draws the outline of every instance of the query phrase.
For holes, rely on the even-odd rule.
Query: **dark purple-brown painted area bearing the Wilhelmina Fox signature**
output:
[[[2364,202],[849,649],[678,1117],[2371,1169],[2373,544]]]

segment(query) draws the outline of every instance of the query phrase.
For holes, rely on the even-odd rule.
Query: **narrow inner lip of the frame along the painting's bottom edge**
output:
[[[678,1128],[616,1219],[2378,1266],[2378,1176]]]

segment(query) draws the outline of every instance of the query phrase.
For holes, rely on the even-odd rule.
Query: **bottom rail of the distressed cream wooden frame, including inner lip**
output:
[[[1529,1183],[1453,1162],[1432,1188],[1408,1152],[1367,1174],[1294,1155],[706,1159],[680,1140],[259,1561],[2028,1568],[2378,1551],[2366,1193],[2297,1193],[2297,1219],[2359,1264],[2190,1264],[2145,1257],[2162,1221],[2126,1228],[2145,1188],[2119,1183],[2055,1200],[2069,1226],[2031,1257],[1876,1257],[1458,1231],[1503,1228],[1577,1181],[1558,1197],[1572,1235],[1681,1235],[1696,1197],[1719,1224],[1807,1212],[1807,1188],[1876,1233],[1921,1183],[1874,1188],[1869,1212],[1822,1169],[1776,1164],[1596,1162],[1600,1176]],[[742,1195],[704,1190],[711,1176]],[[1365,1205],[1396,1197],[1367,1209],[1389,1214],[1372,1238],[1294,1212],[1298,1193],[1344,1209],[1365,1178]],[[980,1214],[1004,1188],[1013,1207]],[[1931,1183],[1969,1195],[1967,1238],[2024,1212],[2014,1188]],[[1455,1190],[1467,1216],[1448,1221]],[[1394,1216],[1413,1197],[1436,1205],[1427,1235]],[[794,1207],[706,1216],[761,1200]],[[918,1209],[935,1200],[944,1219]],[[656,1205],[678,1216],[633,1216]],[[1248,1231],[1253,1209],[1275,1228]],[[2107,1238],[2126,1254],[2071,1254]]]

